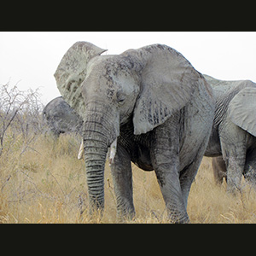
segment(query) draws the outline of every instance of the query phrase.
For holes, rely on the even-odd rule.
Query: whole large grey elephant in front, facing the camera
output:
[[[135,214],[131,161],[156,173],[173,222],[187,223],[191,183],[212,128],[212,88],[183,55],[161,44],[101,55],[77,42],[56,72],[58,89],[84,119],[84,159],[92,208],[104,206],[104,166],[111,165],[119,217]]]

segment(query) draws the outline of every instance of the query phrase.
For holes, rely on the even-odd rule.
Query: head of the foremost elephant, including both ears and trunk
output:
[[[132,120],[134,135],[152,131],[189,102],[198,81],[205,81],[183,55],[166,45],[120,55],[101,55],[104,51],[87,42],[73,44],[55,72],[61,95],[84,119],[90,203],[100,208],[106,154],[120,126]]]

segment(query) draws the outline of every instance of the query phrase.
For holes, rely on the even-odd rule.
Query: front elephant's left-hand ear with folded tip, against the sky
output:
[[[85,79],[87,64],[106,50],[88,42],[77,42],[67,50],[55,71],[54,76],[61,96],[80,115],[84,111],[80,85]]]

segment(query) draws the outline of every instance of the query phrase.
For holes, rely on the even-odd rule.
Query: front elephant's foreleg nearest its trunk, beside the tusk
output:
[[[130,155],[125,148],[117,144],[116,154],[111,163],[114,193],[117,202],[119,220],[135,216],[132,195],[132,173]]]

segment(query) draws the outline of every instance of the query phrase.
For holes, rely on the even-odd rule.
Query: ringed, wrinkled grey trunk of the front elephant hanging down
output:
[[[104,169],[108,147],[119,136],[119,131],[109,121],[113,119],[106,112],[91,112],[84,119],[84,161],[90,207],[100,210],[104,207]]]

